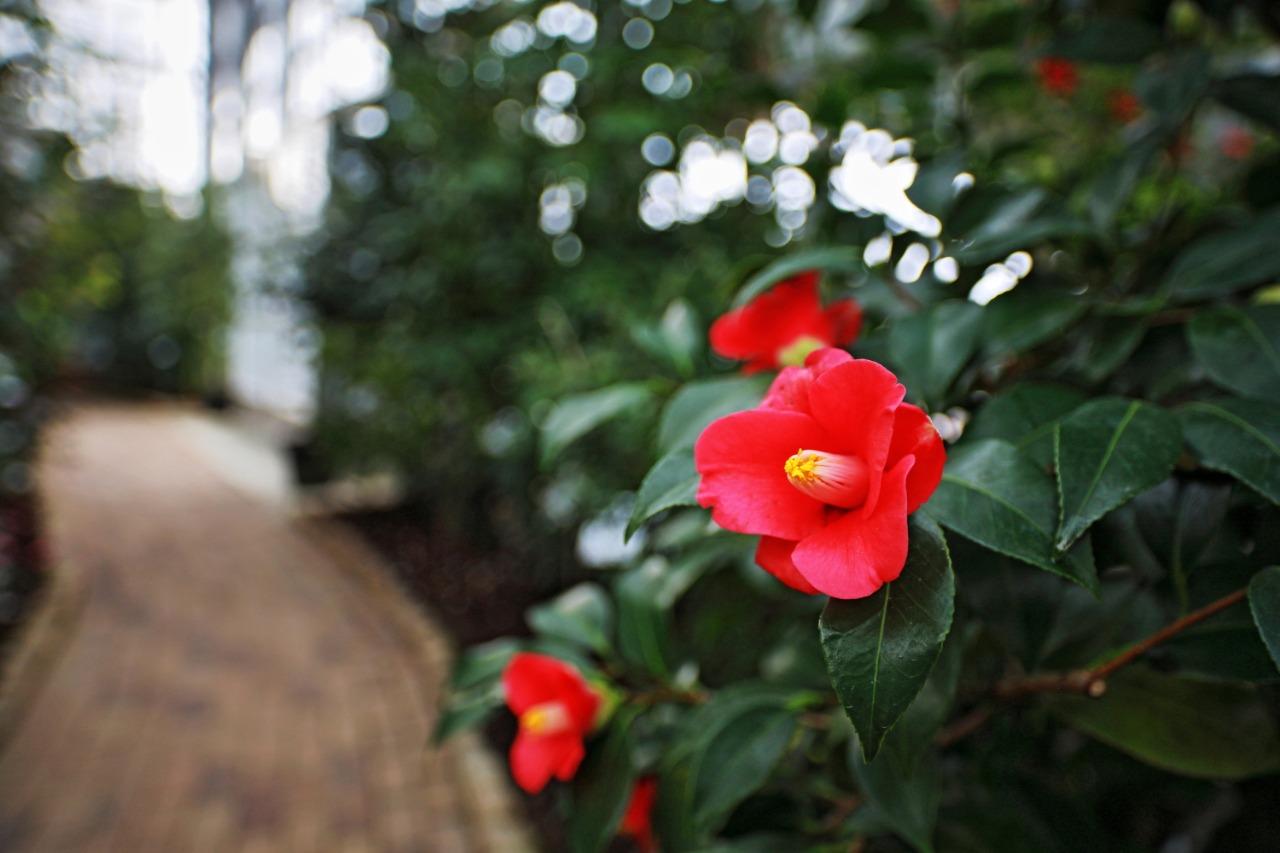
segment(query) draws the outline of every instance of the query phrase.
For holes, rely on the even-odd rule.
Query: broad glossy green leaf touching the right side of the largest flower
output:
[[[1057,498],[1052,480],[1009,442],[986,439],[951,451],[925,511],[966,539],[1097,592],[1087,542],[1065,560],[1053,548]]]

